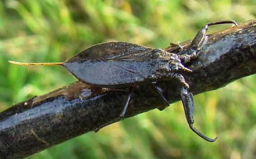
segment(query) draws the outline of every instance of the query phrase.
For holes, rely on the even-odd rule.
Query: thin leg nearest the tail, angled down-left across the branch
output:
[[[128,98],[127,98],[126,103],[125,103],[125,105],[124,105],[124,107],[122,109],[122,112],[119,114],[119,117],[117,117],[117,118],[115,118],[113,120],[110,120],[110,121],[106,122],[105,124],[103,124],[101,126],[98,126],[96,129],[93,130],[95,133],[97,133],[103,127],[108,126],[108,125],[110,125],[110,124],[112,124],[112,123],[114,123],[116,121],[120,121],[120,120],[122,120],[124,118],[124,115],[125,115],[125,113],[127,111],[128,105],[129,105],[129,101],[130,101],[131,96],[132,96],[132,90],[133,90],[133,87],[131,86],[131,88],[129,89]]]

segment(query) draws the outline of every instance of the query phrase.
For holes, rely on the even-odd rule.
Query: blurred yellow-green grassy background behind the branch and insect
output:
[[[76,81],[64,67],[7,63],[62,62],[100,42],[165,48],[194,38],[207,22],[256,17],[255,0],[1,0],[0,111]],[[209,33],[230,27],[211,26]],[[256,158],[256,76],[195,96],[194,126],[181,102],[84,134],[29,159]]]

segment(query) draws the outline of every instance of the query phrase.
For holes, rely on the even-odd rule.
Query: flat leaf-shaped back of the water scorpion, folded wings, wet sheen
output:
[[[77,79],[99,87],[123,87],[154,80],[153,49],[128,42],[106,42],[89,47],[65,61]]]

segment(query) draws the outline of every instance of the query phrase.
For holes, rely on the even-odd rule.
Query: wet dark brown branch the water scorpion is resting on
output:
[[[186,53],[190,41],[181,43]],[[172,47],[166,50],[172,50]],[[215,90],[256,73],[256,19],[209,35],[199,58],[183,74],[190,92]],[[173,103],[180,100],[177,81],[158,83]],[[128,92],[92,87],[79,81],[23,101],[0,113],[0,158],[23,158],[80,134],[108,125],[119,116]],[[147,85],[138,85],[125,117],[163,107]]]

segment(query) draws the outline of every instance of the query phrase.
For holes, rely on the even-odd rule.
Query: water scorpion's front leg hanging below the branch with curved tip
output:
[[[190,129],[192,131],[194,131],[195,134],[197,134],[201,138],[205,139],[206,141],[214,142],[217,139],[217,137],[214,138],[214,139],[208,138],[207,136],[202,134],[199,130],[197,130],[193,127],[193,124],[194,124],[194,119],[193,119],[193,115],[194,115],[193,94],[188,92],[189,85],[185,82],[185,79],[182,75],[176,74],[175,78],[179,79],[181,84],[183,84],[183,87],[181,88],[181,101],[182,101],[182,104],[183,104],[183,108],[184,108],[184,111],[185,111],[185,116],[186,116],[186,119],[187,119],[187,122],[189,124]]]

